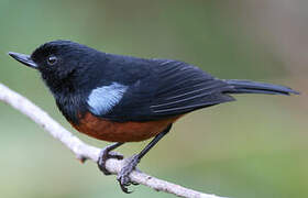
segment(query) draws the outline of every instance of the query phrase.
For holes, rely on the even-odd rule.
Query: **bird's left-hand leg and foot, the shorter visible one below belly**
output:
[[[109,158],[118,158],[118,160],[123,160],[123,155],[120,154],[114,154],[113,152],[111,152],[112,150],[116,150],[117,147],[119,147],[120,145],[122,145],[123,143],[121,142],[117,142],[114,144],[110,144],[108,146],[106,146],[105,148],[102,148],[99,153],[99,157],[97,161],[97,165],[98,168],[105,174],[105,175],[111,175],[111,173],[106,168],[106,162]]]

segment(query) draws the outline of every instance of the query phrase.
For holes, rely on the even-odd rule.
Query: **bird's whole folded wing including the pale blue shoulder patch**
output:
[[[121,72],[108,85],[91,91],[95,114],[116,121],[156,120],[233,100],[222,95],[228,85],[200,68],[174,59],[117,56]]]

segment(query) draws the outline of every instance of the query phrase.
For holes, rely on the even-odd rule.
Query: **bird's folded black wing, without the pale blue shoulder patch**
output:
[[[213,78],[201,69],[183,62],[169,59],[142,59],[134,62],[142,68],[142,77],[134,79],[121,101],[102,117],[114,121],[148,121],[184,114],[196,109],[232,101],[222,94],[232,86]],[[123,68],[132,72],[133,66]]]

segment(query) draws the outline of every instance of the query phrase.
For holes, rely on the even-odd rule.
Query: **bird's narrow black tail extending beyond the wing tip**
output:
[[[299,92],[293,90],[292,88],[278,85],[237,79],[224,81],[233,87],[232,89],[226,91],[226,94],[299,95]]]

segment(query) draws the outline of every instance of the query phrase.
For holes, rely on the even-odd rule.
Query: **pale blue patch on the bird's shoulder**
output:
[[[87,100],[90,110],[95,114],[108,113],[120,102],[127,89],[128,86],[118,82],[94,89]]]

